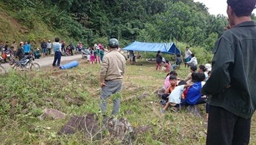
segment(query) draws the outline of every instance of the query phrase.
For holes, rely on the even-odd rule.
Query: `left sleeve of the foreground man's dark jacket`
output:
[[[203,95],[220,93],[230,84],[231,65],[234,62],[233,47],[225,38],[220,38],[214,52],[211,76],[201,89]]]

